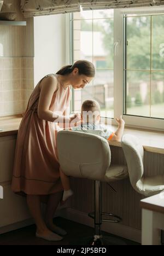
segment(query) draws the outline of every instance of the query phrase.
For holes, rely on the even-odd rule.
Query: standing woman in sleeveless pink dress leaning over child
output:
[[[63,193],[56,148],[57,123],[62,120],[68,125],[74,118],[80,120],[80,114],[66,116],[70,85],[73,89],[84,88],[94,76],[95,67],[88,61],[77,61],[56,74],[46,75],[34,89],[19,127],[12,189],[27,195],[27,205],[37,225],[36,236],[49,241],[59,241],[59,235],[66,235],[53,223]],[[45,220],[40,211],[43,195],[49,195]]]

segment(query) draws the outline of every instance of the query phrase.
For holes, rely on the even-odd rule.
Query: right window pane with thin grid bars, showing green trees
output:
[[[164,15],[126,16],[125,114],[164,119]]]

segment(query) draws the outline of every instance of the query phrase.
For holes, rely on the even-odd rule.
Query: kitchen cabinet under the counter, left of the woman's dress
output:
[[[0,234],[29,225],[31,218],[26,197],[16,195],[11,190],[16,136],[0,137]]]

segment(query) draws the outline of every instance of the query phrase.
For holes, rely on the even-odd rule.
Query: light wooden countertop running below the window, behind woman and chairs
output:
[[[0,118],[0,137],[17,135],[17,130],[22,120],[22,115],[11,115]],[[116,127],[115,129],[116,130]],[[141,129],[125,128],[124,134],[130,133],[137,136],[143,144],[144,150],[164,154],[164,132],[147,131]],[[111,146],[121,147],[121,142],[109,142]]]

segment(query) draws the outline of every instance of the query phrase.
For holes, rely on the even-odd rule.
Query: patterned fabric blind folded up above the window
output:
[[[52,14],[74,13],[83,10],[155,7],[164,5],[164,0],[21,0],[24,16],[42,16]]]

